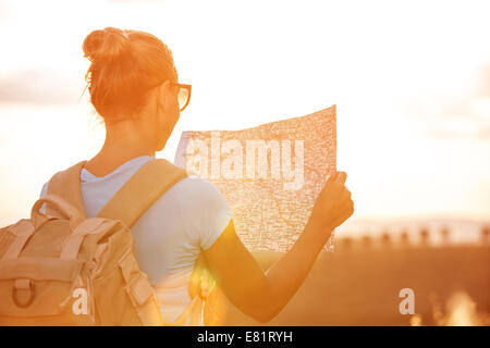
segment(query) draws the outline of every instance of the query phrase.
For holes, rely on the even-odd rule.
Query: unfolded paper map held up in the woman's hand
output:
[[[215,184],[249,250],[287,251],[335,172],[335,105],[242,130],[184,132],[175,164]],[[333,234],[326,244],[333,251]]]

